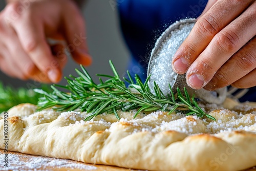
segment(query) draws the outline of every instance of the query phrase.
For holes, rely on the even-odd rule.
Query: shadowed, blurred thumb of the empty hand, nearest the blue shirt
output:
[[[69,13],[64,11],[65,38],[68,42],[67,50],[77,63],[89,66],[92,63],[92,58],[88,51],[84,20],[75,4],[69,8]]]

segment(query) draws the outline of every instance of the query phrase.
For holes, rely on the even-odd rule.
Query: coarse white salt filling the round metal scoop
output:
[[[195,23],[181,24],[179,29],[172,31],[165,39],[161,42],[161,46],[158,49],[154,60],[151,61],[151,79],[155,80],[159,85],[159,88],[164,94],[169,93],[168,84],[172,86],[175,82],[177,74],[172,69],[172,58],[182,42],[188,36]],[[154,87],[151,82],[151,87]]]

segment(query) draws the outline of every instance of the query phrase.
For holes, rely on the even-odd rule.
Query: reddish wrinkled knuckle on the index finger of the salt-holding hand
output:
[[[203,35],[207,34],[207,36],[214,37],[220,31],[216,17],[211,14],[201,17],[197,23],[198,31]]]

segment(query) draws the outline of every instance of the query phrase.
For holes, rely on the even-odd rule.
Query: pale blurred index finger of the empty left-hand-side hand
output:
[[[58,82],[61,79],[61,70],[47,43],[42,22],[38,22],[38,18],[36,20],[33,17],[20,16],[10,25],[37,68],[47,74],[52,82]]]

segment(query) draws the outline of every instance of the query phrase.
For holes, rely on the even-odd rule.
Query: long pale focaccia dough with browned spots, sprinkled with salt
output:
[[[205,106],[207,108],[207,106]],[[242,109],[242,112],[239,112]],[[8,111],[8,150],[147,170],[242,170],[256,165],[256,115],[211,110],[217,120],[184,114],[119,112],[84,121],[87,113]],[[234,108],[235,110],[235,108]],[[248,111],[248,110],[247,110]],[[1,115],[2,116],[2,115]],[[0,117],[0,134],[4,135]],[[4,149],[4,140],[0,140]]]

